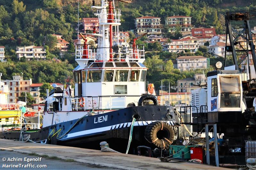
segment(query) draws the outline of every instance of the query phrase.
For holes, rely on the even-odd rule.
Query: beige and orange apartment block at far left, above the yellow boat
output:
[[[32,79],[23,80],[22,76],[13,76],[12,78],[12,80],[2,80],[2,82],[9,87],[9,103],[16,103],[19,101],[22,92],[29,93]]]

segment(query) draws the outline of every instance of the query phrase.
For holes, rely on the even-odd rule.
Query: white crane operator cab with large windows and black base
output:
[[[239,121],[236,115],[242,116],[245,105],[242,74],[238,70],[214,70],[207,73],[207,107],[210,123]]]

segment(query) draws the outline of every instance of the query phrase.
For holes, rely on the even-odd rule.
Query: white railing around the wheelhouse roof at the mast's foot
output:
[[[107,53],[97,53],[100,48],[92,48],[92,45],[86,44],[87,48],[84,48],[84,44],[76,45],[76,59],[84,60],[94,60],[94,61],[108,61]],[[138,59],[145,59],[145,50],[143,45],[136,45],[135,48],[132,47],[122,47],[112,48],[113,52],[110,53],[110,48],[105,48],[108,51],[109,56],[112,54],[113,61],[129,62],[136,61]],[[87,50],[87,54],[84,52]]]

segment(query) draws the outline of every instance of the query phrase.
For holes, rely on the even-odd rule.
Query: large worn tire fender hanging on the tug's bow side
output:
[[[158,139],[157,137],[157,133],[160,130],[160,133],[162,133],[162,136],[164,137],[163,141],[162,139]],[[145,138],[148,140],[149,143],[153,143],[158,148],[168,148],[174,140],[174,131],[172,126],[167,122],[152,122],[146,127]]]

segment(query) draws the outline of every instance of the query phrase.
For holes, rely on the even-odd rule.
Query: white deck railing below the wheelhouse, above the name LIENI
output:
[[[115,110],[125,108],[130,103],[138,106],[140,97],[140,95],[74,97],[71,98],[71,105],[73,111]]]

